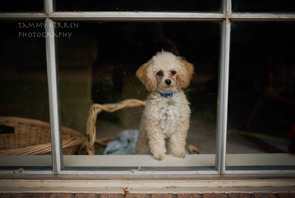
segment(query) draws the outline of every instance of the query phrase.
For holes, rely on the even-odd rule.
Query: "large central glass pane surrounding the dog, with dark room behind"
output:
[[[137,79],[135,71],[164,49],[186,57],[195,68],[190,86],[184,89],[191,103],[187,154],[215,154],[220,23],[73,22],[74,25],[76,28],[69,30],[71,36],[63,34],[62,28],[57,33],[64,126],[83,134],[87,127],[94,127],[95,154],[135,154],[144,107],[101,112],[96,122],[87,126],[89,109],[93,103],[145,100],[149,91]],[[119,138],[128,139],[127,147],[122,146]]]

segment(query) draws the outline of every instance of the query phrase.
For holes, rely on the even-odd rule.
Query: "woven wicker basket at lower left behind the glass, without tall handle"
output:
[[[12,133],[0,134],[0,155],[51,154],[49,123],[19,117],[0,117],[0,125],[12,129]],[[80,145],[85,145],[84,135],[67,127],[62,127],[62,138],[63,154],[66,155],[74,154]]]

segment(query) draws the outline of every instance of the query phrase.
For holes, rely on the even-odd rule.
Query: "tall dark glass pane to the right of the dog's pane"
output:
[[[232,23],[227,169],[294,169],[294,25]],[[259,165],[235,167],[240,158],[229,154]]]

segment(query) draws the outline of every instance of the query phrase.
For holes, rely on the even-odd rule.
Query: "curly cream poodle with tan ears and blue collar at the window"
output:
[[[182,88],[189,86],[193,73],[192,64],[167,51],[137,69],[137,78],[151,91],[139,127],[137,154],[152,153],[160,161],[169,152],[185,157],[191,110]]]

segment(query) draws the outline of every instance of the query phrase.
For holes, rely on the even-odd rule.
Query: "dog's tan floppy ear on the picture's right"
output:
[[[191,78],[193,77],[194,65],[186,61],[183,57],[177,56],[176,58],[181,66],[176,83],[179,87],[186,88],[189,86]]]

